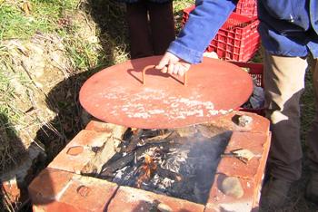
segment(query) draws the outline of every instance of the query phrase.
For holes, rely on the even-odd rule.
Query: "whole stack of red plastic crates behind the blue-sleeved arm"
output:
[[[183,24],[195,6],[184,9]],[[263,64],[246,63],[251,60],[260,46],[260,35],[257,32],[256,0],[239,0],[234,13],[229,16],[215,38],[206,48],[206,52],[217,53],[218,57],[230,61],[253,77],[255,86],[263,88]],[[264,108],[245,108],[239,111],[254,112],[264,115]]]

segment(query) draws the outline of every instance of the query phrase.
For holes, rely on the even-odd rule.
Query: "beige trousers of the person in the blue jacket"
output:
[[[313,84],[316,106],[318,65],[314,60]],[[304,89],[306,59],[273,56],[265,53],[264,92],[266,117],[271,120],[272,145],[268,168],[274,178],[294,181],[302,175],[302,145],[300,140],[300,98]],[[308,134],[311,168],[318,171],[318,112]]]

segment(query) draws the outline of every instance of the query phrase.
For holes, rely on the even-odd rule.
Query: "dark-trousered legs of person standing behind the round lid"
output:
[[[118,0],[127,8],[131,58],[164,54],[175,39],[172,0]]]

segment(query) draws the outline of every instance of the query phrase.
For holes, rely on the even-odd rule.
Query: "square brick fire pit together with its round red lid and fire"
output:
[[[233,110],[253,91],[249,74],[205,58],[181,81],[155,70],[159,60],[84,83],[79,99],[98,120],[30,184],[35,212],[257,210],[269,121]]]

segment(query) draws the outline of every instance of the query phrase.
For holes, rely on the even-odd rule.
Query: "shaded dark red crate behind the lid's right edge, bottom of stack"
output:
[[[248,72],[251,77],[254,79],[256,86],[263,88],[263,64],[262,63],[242,63],[242,62],[233,62],[237,66],[242,67],[246,72]],[[254,112],[258,115],[264,116],[264,108],[250,109],[250,108],[239,108],[239,111],[248,111]]]

